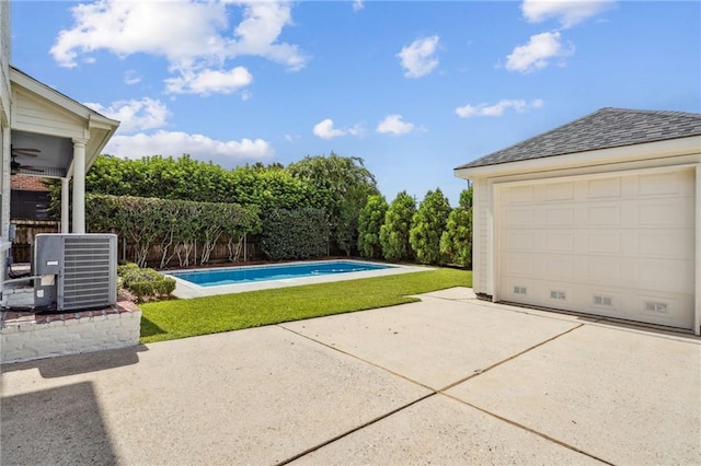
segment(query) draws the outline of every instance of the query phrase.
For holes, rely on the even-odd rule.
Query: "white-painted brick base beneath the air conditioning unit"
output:
[[[129,301],[100,311],[0,317],[0,364],[135,346],[141,310]]]

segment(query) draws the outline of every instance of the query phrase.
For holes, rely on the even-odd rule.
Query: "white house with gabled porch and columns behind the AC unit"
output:
[[[10,65],[8,1],[0,1],[0,260],[4,265],[10,247],[11,173],[59,178],[61,231],[84,233],[85,172],[119,121],[100,115]],[[69,193],[71,179],[72,193]],[[72,202],[72,222],[69,222],[69,202]],[[72,224],[71,231],[69,224]],[[1,292],[4,267],[0,270]]]

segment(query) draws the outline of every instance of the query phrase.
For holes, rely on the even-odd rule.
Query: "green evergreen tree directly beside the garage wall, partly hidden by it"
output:
[[[460,194],[460,205],[448,215],[440,236],[440,254],[450,264],[472,267],[472,187]]]

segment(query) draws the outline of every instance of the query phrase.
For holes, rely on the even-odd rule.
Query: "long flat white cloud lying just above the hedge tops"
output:
[[[145,155],[180,156],[188,153],[193,159],[237,165],[248,161],[268,160],[275,155],[271,144],[263,139],[241,141],[217,141],[203,135],[181,131],[140,132],[133,136],[114,136],[104,153],[124,159],[140,159]]]

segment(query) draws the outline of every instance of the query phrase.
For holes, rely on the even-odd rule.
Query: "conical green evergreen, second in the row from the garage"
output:
[[[445,258],[440,254],[440,236],[446,230],[450,203],[440,188],[426,193],[426,197],[418,206],[412,218],[409,241],[422,264],[443,264]]]

